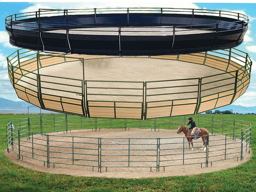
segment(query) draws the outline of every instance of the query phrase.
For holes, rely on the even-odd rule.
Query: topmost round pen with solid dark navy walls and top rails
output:
[[[10,43],[93,55],[184,54],[242,43],[248,17],[207,9],[39,9],[6,17]]]

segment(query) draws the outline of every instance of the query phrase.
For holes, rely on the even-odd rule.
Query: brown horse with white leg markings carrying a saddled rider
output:
[[[197,138],[200,138],[202,137],[202,140],[203,140],[203,147],[201,149],[203,149],[203,151],[206,151],[206,142],[207,142],[207,136],[209,135],[209,131],[205,128],[201,128],[201,133],[198,134]],[[193,146],[193,136],[191,136],[191,131],[189,129],[187,129],[186,127],[180,125],[178,130],[177,130],[177,133],[181,133],[183,132],[185,134],[185,137],[187,139],[187,142],[189,142],[189,148],[190,148],[190,143],[192,145],[192,150],[194,150],[194,146]]]

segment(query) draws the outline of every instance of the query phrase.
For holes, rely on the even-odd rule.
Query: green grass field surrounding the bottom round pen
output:
[[[208,118],[209,116],[207,115]],[[214,173],[146,179],[116,179],[47,174],[23,168],[10,162],[4,155],[6,150],[6,124],[11,120],[27,118],[27,115],[0,115],[0,192],[256,191],[256,115],[213,116],[252,123],[251,146],[253,157],[251,160],[238,167]],[[191,174],[193,174],[193,167],[191,167]]]

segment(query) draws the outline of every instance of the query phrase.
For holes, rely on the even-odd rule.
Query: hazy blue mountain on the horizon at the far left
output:
[[[34,106],[25,101],[12,101],[0,97],[0,113],[27,113],[27,107]],[[30,113],[39,113],[40,108],[37,106],[29,108]],[[42,113],[50,113],[50,111],[42,110]]]

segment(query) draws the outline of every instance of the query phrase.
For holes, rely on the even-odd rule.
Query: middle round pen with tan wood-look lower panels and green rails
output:
[[[86,79],[87,59],[116,56],[42,54],[19,49],[7,57],[8,72],[19,98],[42,109],[93,118],[150,119],[197,114],[231,104],[245,93],[250,82],[251,59],[243,51],[143,56],[183,61],[222,70],[207,77],[159,81]],[[125,58],[125,57],[124,57]],[[76,78],[40,74],[40,69],[78,62]],[[104,91],[102,91],[104,90]],[[191,90],[188,92],[188,90]]]

